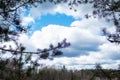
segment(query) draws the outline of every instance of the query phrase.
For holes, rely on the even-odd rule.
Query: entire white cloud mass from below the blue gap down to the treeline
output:
[[[21,35],[20,41],[30,51],[47,48],[51,43],[56,45],[64,38],[71,42],[71,46],[63,50],[61,57],[56,57],[53,61],[41,60],[40,63],[78,69],[94,68],[96,63],[101,63],[104,68],[116,68],[120,63],[120,47],[109,43],[101,35],[103,23],[104,21],[93,18],[74,21],[71,27],[48,25],[35,31],[31,37]]]

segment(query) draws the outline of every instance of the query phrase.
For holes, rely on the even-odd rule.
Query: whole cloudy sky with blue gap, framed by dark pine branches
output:
[[[67,9],[63,4],[49,6],[40,5],[28,9],[24,14],[25,21],[32,23],[33,28],[31,36],[24,34],[20,39],[27,50],[46,48],[51,43],[55,45],[67,38],[71,46],[63,50],[64,55],[53,61],[43,60],[44,64],[94,68],[96,63],[101,63],[104,68],[117,68],[120,63],[120,47],[108,42],[101,34],[103,27],[113,29],[112,23],[95,18],[85,19],[83,16],[90,11],[90,6],[89,10],[88,7],[78,7],[77,12]]]

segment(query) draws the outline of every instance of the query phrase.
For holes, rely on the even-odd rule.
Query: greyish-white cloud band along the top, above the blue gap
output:
[[[89,7],[89,9],[88,9]],[[74,11],[74,10],[77,11]],[[87,13],[92,13],[92,5],[91,4],[81,4],[78,6],[73,6],[72,10],[70,9],[70,6],[68,6],[67,3],[61,3],[55,5],[54,3],[42,3],[37,7],[32,7],[30,10],[30,14],[33,17],[38,17],[45,14],[66,14],[68,16],[73,16],[74,18],[81,18]]]

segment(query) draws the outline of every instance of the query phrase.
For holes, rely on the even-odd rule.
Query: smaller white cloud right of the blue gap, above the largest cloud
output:
[[[113,31],[114,25],[113,23],[107,23],[104,19],[98,18],[89,18],[89,19],[82,19],[82,20],[76,20],[74,21],[70,26],[72,27],[80,27],[82,29],[87,29],[91,31],[93,34],[103,34],[102,29],[107,28],[109,31]]]

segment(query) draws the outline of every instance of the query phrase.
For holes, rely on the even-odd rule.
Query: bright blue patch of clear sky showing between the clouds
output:
[[[35,30],[39,30],[44,26],[47,26],[49,24],[55,24],[55,25],[61,25],[61,26],[70,26],[70,24],[75,19],[72,16],[67,16],[65,14],[47,14],[43,15],[40,18],[35,19]]]

